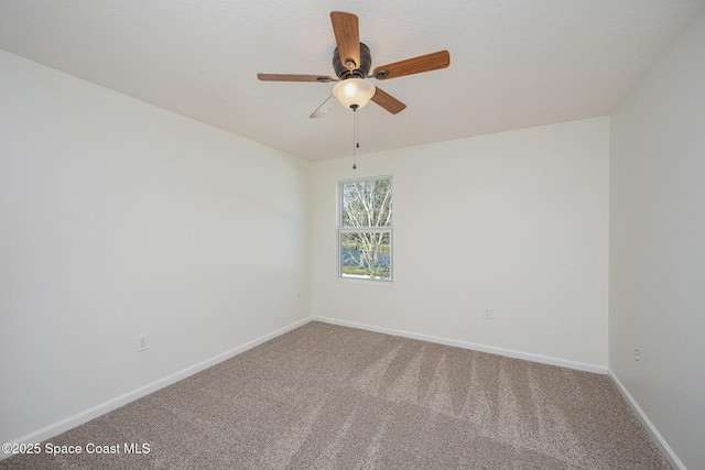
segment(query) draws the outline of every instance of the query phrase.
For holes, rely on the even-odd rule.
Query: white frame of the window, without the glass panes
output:
[[[343,185],[344,184],[349,184],[349,183],[356,183],[356,182],[372,182],[372,181],[381,181],[381,179],[389,179],[390,185],[392,187],[392,219],[391,219],[391,223],[388,227],[343,227]],[[383,283],[383,284],[391,284],[392,280],[393,280],[393,261],[394,261],[394,250],[393,250],[393,245],[394,245],[394,241],[393,241],[393,225],[394,225],[394,217],[393,217],[393,204],[394,204],[394,181],[392,178],[391,175],[384,175],[384,176],[370,176],[370,177],[362,177],[362,178],[355,178],[355,179],[341,179],[338,181],[338,186],[337,186],[337,210],[336,210],[336,219],[337,219],[337,236],[338,236],[338,242],[337,244],[337,255],[336,258],[338,259],[338,278],[340,280],[345,280],[345,281],[359,281],[359,282],[371,282],[371,283]],[[352,275],[352,274],[343,274],[343,236],[345,233],[388,233],[389,236],[389,278],[384,278],[384,277],[370,277],[367,275]]]

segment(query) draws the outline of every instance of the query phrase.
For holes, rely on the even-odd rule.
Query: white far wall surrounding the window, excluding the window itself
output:
[[[314,163],[314,315],[606,369],[608,159],[597,118]],[[391,286],[337,278],[337,182],[372,175]]]

